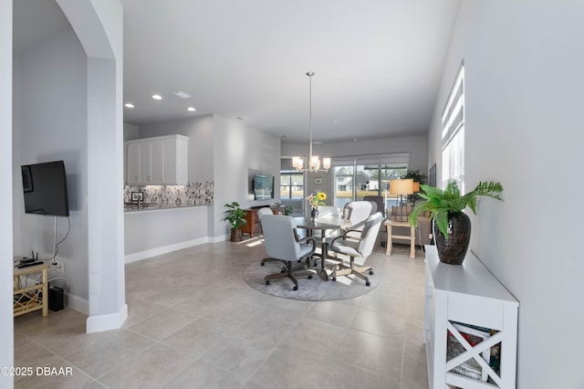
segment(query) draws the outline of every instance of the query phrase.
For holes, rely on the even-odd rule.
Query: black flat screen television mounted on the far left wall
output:
[[[69,216],[63,161],[26,164],[21,171],[27,214]]]

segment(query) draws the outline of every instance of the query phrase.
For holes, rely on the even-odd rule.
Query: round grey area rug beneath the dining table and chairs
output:
[[[308,279],[306,276],[297,277],[298,289],[293,290],[294,282],[291,279],[273,279],[270,281],[270,285],[266,285],[264,280],[268,274],[279,273],[283,266],[282,262],[266,262],[266,266],[261,266],[260,263],[261,261],[257,261],[244,270],[245,282],[255,290],[283,299],[305,301],[352,299],[377,288],[380,284],[380,279],[373,268],[373,275],[368,274],[370,287],[366,287],[365,281],[355,276],[342,276],[336,281],[330,279],[325,281],[320,276],[314,275],[312,279]],[[297,264],[297,266],[301,265]]]

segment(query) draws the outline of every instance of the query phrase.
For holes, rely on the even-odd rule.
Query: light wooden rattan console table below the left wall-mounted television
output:
[[[16,316],[34,310],[43,310],[43,316],[48,314],[48,267],[49,264],[17,268],[14,270],[14,314]],[[42,273],[42,280],[32,286],[23,286],[20,282],[21,276],[28,276],[29,279],[37,277]]]

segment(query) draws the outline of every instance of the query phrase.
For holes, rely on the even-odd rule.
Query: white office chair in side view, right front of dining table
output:
[[[360,237],[349,235],[349,232],[355,232],[355,230],[349,230],[345,235],[332,239],[330,242],[330,251],[349,256],[350,258],[349,265],[341,262],[331,267],[332,273],[330,277],[333,281],[336,281],[339,276],[354,274],[360,279],[364,279],[365,285],[370,286],[369,278],[363,273],[369,271],[369,274],[372,275],[373,269],[370,266],[356,266],[355,258],[365,259],[371,255],[377,234],[380,232],[382,220],[383,216],[381,216],[381,212],[377,212],[367,218],[360,231]]]

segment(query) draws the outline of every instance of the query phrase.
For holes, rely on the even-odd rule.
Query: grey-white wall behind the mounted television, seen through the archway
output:
[[[30,256],[36,251],[40,258],[53,253],[54,216],[25,214],[20,166],[63,160],[71,231],[58,247],[57,260],[65,263],[69,298],[87,301],[87,57],[69,29],[15,53],[14,62],[14,253]],[[57,241],[67,231],[67,218],[58,217]],[[63,274],[51,271],[49,276]]]

